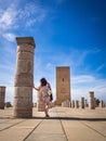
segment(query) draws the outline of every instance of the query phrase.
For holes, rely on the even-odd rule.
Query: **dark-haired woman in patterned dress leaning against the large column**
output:
[[[34,86],[34,88],[38,91],[38,94],[41,95],[41,100],[43,101],[45,117],[49,117],[50,95],[49,95],[49,87],[48,87],[47,79],[41,78],[40,86],[38,88]]]

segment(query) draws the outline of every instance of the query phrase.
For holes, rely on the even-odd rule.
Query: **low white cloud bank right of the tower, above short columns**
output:
[[[94,76],[72,76],[71,78],[71,93],[72,99],[80,99],[84,97],[89,99],[89,91],[94,91],[95,98],[106,101],[106,80],[97,79]]]

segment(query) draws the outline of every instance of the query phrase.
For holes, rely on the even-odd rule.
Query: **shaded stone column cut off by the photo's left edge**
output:
[[[0,86],[0,108],[4,110],[5,87]]]

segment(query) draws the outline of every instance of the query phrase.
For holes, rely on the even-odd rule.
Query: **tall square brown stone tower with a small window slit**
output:
[[[70,68],[56,67],[56,105],[70,101]]]

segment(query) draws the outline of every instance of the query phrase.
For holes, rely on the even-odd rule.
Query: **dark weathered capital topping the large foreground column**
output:
[[[27,44],[31,44],[36,48],[34,37],[16,37],[16,42],[17,42],[17,46],[27,43]]]

